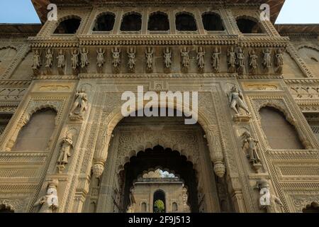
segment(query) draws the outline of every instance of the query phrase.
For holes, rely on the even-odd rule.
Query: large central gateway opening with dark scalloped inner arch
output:
[[[199,122],[205,119],[200,118]],[[137,212],[140,212],[142,201],[151,201],[147,209],[152,212],[152,197],[138,199],[135,182],[145,171],[158,168],[169,170],[179,177],[173,180],[180,185],[181,196],[179,199],[173,196],[166,201],[167,211],[172,212],[170,205],[178,201],[178,204],[186,204],[183,207],[189,207],[179,208],[182,212],[220,212],[219,196],[223,193],[223,198],[228,198],[225,195],[228,194],[228,181],[220,182],[226,184],[223,192],[217,189],[218,177],[213,170],[205,133],[198,123],[186,125],[185,117],[179,116],[128,116],[117,123],[112,134],[106,168],[101,175],[97,212],[132,212],[135,211],[133,206],[138,206]],[[181,180],[183,184],[180,184]],[[157,186],[155,189],[162,188]],[[164,190],[167,192],[167,189]],[[84,211],[88,210],[87,205],[94,198],[87,196],[86,199]],[[227,202],[228,211],[232,212],[231,199]]]

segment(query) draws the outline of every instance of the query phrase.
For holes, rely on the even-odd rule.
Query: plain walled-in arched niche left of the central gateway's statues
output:
[[[35,112],[18,133],[16,143],[11,150],[46,150],[55,129],[56,116],[57,112],[50,108]]]

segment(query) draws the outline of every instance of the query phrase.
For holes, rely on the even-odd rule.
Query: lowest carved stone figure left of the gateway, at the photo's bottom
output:
[[[45,196],[42,196],[33,206],[40,206],[38,213],[54,213],[59,208],[59,198],[57,196],[57,187],[59,181],[53,179],[47,186]]]

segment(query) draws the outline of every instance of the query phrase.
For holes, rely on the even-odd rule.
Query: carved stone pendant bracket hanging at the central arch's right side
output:
[[[218,177],[223,177],[226,172],[223,150],[218,141],[218,136],[216,135],[217,127],[208,126],[206,139],[208,141],[208,148],[211,155],[211,160],[213,161],[213,169]]]

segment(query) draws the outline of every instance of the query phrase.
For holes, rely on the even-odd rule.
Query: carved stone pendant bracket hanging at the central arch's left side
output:
[[[108,157],[108,147],[110,145],[111,138],[112,133],[107,133],[96,145],[92,167],[93,174],[96,178],[100,178],[104,171],[104,164],[106,162],[106,158]]]

